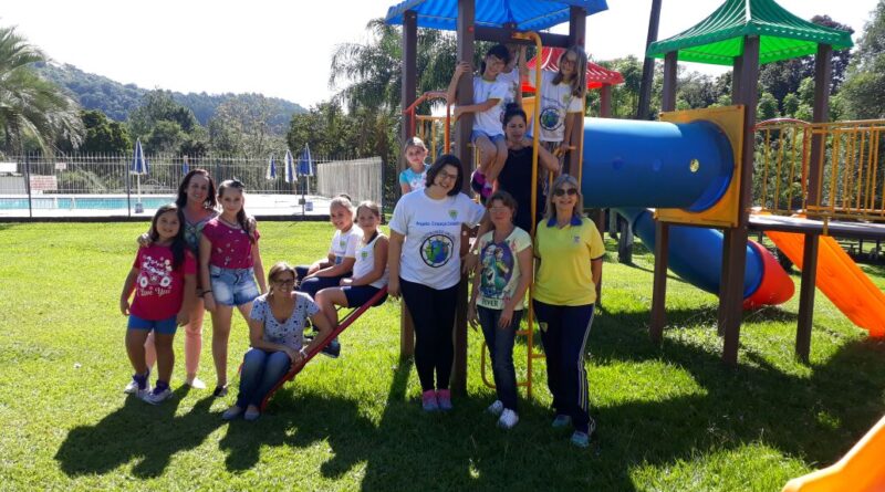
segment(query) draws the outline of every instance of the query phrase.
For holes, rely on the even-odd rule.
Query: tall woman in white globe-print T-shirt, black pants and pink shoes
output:
[[[475,227],[485,208],[461,192],[461,161],[446,154],[427,170],[426,188],[404,195],[391,220],[387,293],[415,322],[415,367],[425,411],[450,410],[461,227]]]

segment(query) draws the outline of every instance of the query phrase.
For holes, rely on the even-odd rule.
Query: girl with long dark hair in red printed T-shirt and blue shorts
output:
[[[173,338],[178,326],[187,324],[194,303],[197,265],[185,247],[181,209],[169,203],[157,209],[150,221],[150,245],[138,249],[123,293],[119,311],[129,316],[126,353],[135,369],[133,392],[157,405],[171,397],[169,379],[175,365]],[[129,305],[129,296],[135,299]],[[154,333],[157,353],[157,385],[150,391],[149,365],[145,360],[145,341]]]

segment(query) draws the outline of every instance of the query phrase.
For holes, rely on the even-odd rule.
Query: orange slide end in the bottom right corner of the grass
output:
[[[835,464],[790,480],[782,492],[885,490],[885,417]]]

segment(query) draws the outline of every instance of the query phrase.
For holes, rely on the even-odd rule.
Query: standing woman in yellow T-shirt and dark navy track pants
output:
[[[535,231],[540,264],[532,301],[546,355],[553,427],[573,426],[572,443],[586,448],[596,425],[590,417],[584,350],[605,245],[596,226],[584,217],[583,205],[574,177],[562,175],[553,181],[546,213]]]

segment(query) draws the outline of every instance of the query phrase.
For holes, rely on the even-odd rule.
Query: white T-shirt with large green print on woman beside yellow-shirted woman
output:
[[[520,228],[513,228],[502,242],[494,242],[494,231],[479,238],[479,296],[477,305],[490,310],[503,310],[507,301],[513,297],[519,285],[520,272],[518,254],[532,245],[532,237]],[[525,302],[517,304],[521,310]]]

